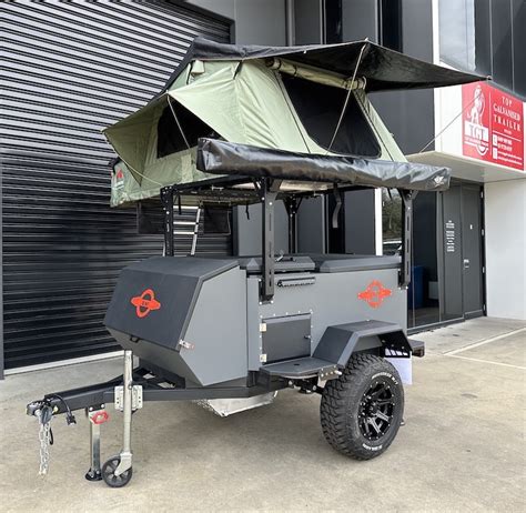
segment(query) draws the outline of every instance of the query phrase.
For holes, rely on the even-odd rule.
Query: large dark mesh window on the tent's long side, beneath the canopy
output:
[[[347,91],[282,74],[292,104],[308,135],[327,149],[336,129]],[[378,158],[381,147],[353,94],[331,151],[346,155]]]

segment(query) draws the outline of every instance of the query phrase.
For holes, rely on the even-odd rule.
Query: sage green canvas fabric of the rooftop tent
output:
[[[121,161],[114,167],[125,180],[112,182],[112,207],[159,195],[161,187],[209,178],[195,168],[195,144],[158,157],[158,127],[164,109],[182,105],[229,142],[305,153],[328,153],[306,132],[283,86],[280,72],[262,60],[192,64],[170,90],[145,107],[104,130]],[[320,74],[323,76],[322,72]],[[393,137],[363,90],[352,92],[376,134],[380,158],[405,161]],[[314,100],[315,101],[315,100]],[[184,131],[184,127],[183,131]],[[202,135],[208,135],[203,133]]]

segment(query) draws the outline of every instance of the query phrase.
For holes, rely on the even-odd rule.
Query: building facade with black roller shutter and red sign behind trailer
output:
[[[2,2],[0,12],[0,374],[118,350],[102,319],[119,271],[159,254],[162,241],[141,225],[144,217],[134,209],[109,208],[113,154],[100,130],[145,103],[195,36],[273,46],[368,38],[492,74],[481,91],[390,92],[373,102],[411,160],[446,163],[455,180],[415,202],[409,326],[485,312],[525,318],[522,0]],[[488,125],[495,115],[503,133]],[[347,193],[335,230],[331,200],[310,201],[300,250],[396,252],[396,202],[382,191]],[[236,235],[204,237],[198,251],[253,251],[257,214],[234,211]],[[180,220],[183,245],[192,215]],[[276,247],[286,249],[281,215]]]

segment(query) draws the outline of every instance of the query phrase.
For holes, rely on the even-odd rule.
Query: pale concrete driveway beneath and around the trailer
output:
[[[89,425],[53,420],[47,477],[24,405],[47,392],[121,372],[120,361],[10,375],[0,382],[0,511],[525,511],[524,322],[478,319],[421,334],[425,359],[406,389],[406,425],[370,462],[323,439],[318,396],[281,392],[270,406],[220,419],[191,403],[149,403],[134,415],[134,475],[90,483]],[[102,429],[118,453],[119,413]]]

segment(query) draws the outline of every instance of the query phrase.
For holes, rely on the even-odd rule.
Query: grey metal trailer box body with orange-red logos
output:
[[[190,386],[246,382],[250,372],[312,356],[331,326],[367,320],[405,330],[399,265],[397,256],[285,255],[273,300],[262,302],[256,258],[155,256],[122,271],[105,324],[144,366]],[[145,291],[156,308],[136,305]],[[383,346],[367,336],[368,349]]]

